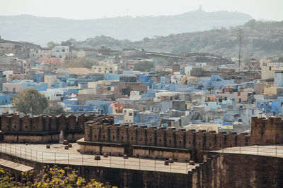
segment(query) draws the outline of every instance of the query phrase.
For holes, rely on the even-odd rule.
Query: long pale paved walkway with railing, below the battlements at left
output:
[[[13,156],[25,158],[40,163],[56,163],[70,165],[89,165],[110,168],[127,168],[134,170],[150,170],[168,173],[183,173],[191,171],[196,165],[188,163],[174,162],[164,165],[163,160],[131,158],[124,159],[119,156],[100,156],[100,161],[94,160],[94,155],[81,154],[78,144],[72,144],[72,148],[64,149],[63,144],[51,144],[50,149],[46,149],[45,144],[0,144],[0,152],[8,153]]]

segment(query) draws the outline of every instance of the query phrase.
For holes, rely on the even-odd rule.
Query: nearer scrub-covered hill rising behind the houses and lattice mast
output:
[[[270,56],[283,56],[283,21],[282,22],[256,22],[250,20],[241,26],[243,28],[243,55],[244,58],[264,58]],[[186,32],[166,37],[144,38],[141,41],[117,40],[104,35],[76,42],[75,46],[99,47],[108,46],[111,49],[136,48],[146,51],[162,51],[182,53],[185,52],[211,52],[222,56],[235,57],[237,54],[238,27],[231,29],[221,28],[204,32]]]

